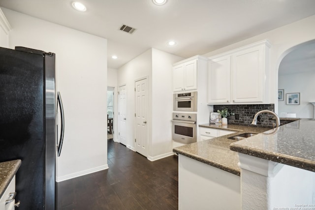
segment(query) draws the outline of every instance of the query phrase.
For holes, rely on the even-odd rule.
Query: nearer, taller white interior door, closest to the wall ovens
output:
[[[135,82],[135,114],[136,114],[136,131],[135,131],[135,150],[140,154],[148,154],[148,79]]]

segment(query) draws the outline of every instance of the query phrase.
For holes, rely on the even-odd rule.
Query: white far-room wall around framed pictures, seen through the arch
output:
[[[297,118],[314,118],[315,71],[279,75],[279,89],[284,89],[284,100],[278,101],[279,114],[296,113]],[[286,105],[286,93],[300,92],[300,105]]]

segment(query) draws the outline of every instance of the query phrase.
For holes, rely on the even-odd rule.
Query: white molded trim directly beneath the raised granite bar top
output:
[[[248,171],[255,172],[265,177],[274,177],[284,166],[270,160],[254,157],[251,155],[238,153],[240,162],[239,167]]]

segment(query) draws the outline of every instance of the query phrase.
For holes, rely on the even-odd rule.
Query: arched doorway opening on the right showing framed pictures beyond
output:
[[[315,40],[296,45],[284,54],[278,70],[278,115],[314,118],[310,102],[315,102]]]

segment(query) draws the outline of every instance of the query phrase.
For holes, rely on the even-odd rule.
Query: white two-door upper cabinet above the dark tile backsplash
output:
[[[208,103],[269,103],[268,40],[209,58]]]

